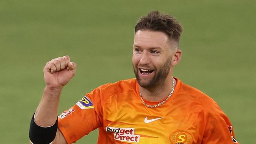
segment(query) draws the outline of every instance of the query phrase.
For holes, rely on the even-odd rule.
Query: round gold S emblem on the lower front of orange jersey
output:
[[[191,144],[192,136],[186,131],[175,131],[170,135],[172,144]]]

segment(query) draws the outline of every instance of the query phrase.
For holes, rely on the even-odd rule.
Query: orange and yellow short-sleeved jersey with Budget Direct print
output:
[[[58,128],[69,144],[96,128],[98,144],[238,144],[217,103],[175,79],[172,96],[155,108],[142,103],[136,79],[102,85],[60,114]]]

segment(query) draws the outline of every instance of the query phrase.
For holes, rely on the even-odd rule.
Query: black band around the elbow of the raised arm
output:
[[[41,127],[35,124],[35,113],[30,122],[29,138],[33,144],[50,144],[56,137],[58,118],[53,126]]]

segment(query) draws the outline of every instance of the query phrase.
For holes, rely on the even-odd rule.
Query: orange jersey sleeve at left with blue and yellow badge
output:
[[[73,107],[58,116],[58,128],[68,144],[102,125],[101,87],[85,94]]]

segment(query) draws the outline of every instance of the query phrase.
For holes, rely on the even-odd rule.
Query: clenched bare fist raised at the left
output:
[[[44,78],[47,87],[62,88],[76,73],[76,63],[70,62],[69,56],[58,57],[47,62]]]

